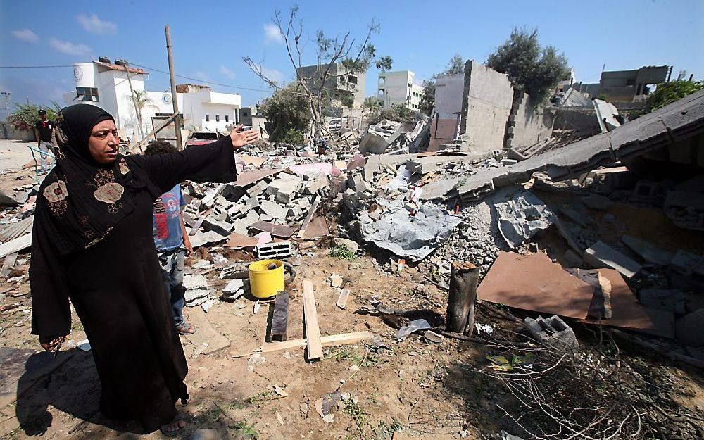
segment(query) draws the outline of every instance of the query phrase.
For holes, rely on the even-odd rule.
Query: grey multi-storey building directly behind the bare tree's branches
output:
[[[306,79],[306,83],[316,90],[325,87],[332,99],[333,107],[344,106],[344,103],[351,99],[352,108],[362,108],[364,103],[364,86],[366,73],[347,73],[346,68],[341,63],[330,66],[329,73],[325,78],[325,84],[321,84],[322,75],[328,65],[306,65],[296,69],[296,73]]]

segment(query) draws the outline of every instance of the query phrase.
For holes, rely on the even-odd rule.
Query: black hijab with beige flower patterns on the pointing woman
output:
[[[39,187],[34,217],[58,253],[86,249],[105,238],[134,210],[137,189],[158,193],[125,156],[110,164],[91,156],[93,127],[104,120],[114,121],[110,113],[89,104],[65,107],[58,114],[56,165]]]

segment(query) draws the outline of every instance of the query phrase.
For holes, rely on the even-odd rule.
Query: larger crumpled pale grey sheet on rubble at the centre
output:
[[[445,212],[433,203],[420,206],[415,215],[391,203],[389,211],[378,220],[368,213],[360,215],[360,231],[365,241],[376,244],[396,256],[418,261],[427,257],[439,244],[450,237],[462,218]]]

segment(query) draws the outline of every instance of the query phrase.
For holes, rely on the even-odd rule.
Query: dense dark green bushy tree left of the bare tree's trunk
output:
[[[282,141],[290,130],[305,132],[310,122],[309,103],[298,93],[298,84],[291,82],[265,99],[261,106],[264,117],[271,123],[269,137],[272,141]]]

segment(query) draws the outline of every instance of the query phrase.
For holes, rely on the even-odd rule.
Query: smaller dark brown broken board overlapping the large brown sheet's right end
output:
[[[601,320],[603,325],[674,338],[674,313],[641,306],[617,270],[599,269],[599,274],[611,283],[613,318]],[[580,321],[591,324],[597,322],[592,319]]]

